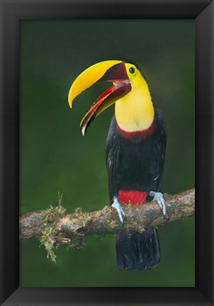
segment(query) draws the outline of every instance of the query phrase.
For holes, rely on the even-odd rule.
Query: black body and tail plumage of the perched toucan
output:
[[[166,133],[162,112],[154,107],[154,130],[142,137],[124,137],[115,115],[111,120],[106,142],[109,197],[119,191],[159,191],[164,169]],[[152,198],[147,196],[145,201]],[[147,270],[159,262],[159,241],[154,227],[142,234],[116,235],[117,263],[120,269]]]

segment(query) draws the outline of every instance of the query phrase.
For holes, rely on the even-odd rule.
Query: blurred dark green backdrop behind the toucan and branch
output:
[[[162,191],[194,187],[194,22],[191,20],[21,21],[20,213],[57,205],[67,212],[108,204],[105,142],[113,106],[81,135],[79,123],[101,93],[77,98],[75,77],[101,60],[130,59],[144,71],[162,109],[168,143]],[[152,271],[120,271],[114,237],[61,246],[57,264],[37,239],[21,243],[21,286],[194,286],[194,218],[159,227],[162,259]]]

